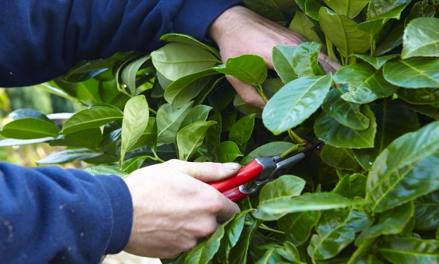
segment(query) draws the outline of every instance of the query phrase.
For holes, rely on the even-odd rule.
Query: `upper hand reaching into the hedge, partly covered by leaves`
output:
[[[254,54],[261,56],[269,69],[273,69],[271,51],[274,46],[297,46],[306,41],[300,34],[239,6],[221,14],[210,26],[208,34],[218,45],[223,62],[230,57]],[[335,73],[341,68],[321,52],[319,61],[326,72]],[[231,76],[226,77],[245,103],[264,107],[265,102],[254,87]]]

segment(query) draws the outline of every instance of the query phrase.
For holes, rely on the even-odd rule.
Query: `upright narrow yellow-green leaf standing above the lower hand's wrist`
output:
[[[125,104],[122,119],[121,162],[136,144],[148,125],[149,107],[144,95],[138,95]]]

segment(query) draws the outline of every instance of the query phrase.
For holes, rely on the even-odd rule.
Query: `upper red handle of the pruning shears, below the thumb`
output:
[[[209,182],[208,184],[213,186],[215,189],[220,192],[225,192],[226,190],[232,189],[234,187],[238,187],[259,175],[261,173],[263,167],[256,160],[251,161],[241,169],[239,169],[238,173],[235,176],[230,178]]]

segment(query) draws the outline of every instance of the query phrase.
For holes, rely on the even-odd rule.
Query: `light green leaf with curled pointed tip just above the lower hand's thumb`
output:
[[[176,146],[179,159],[189,160],[203,143],[207,129],[215,123],[215,121],[197,121],[178,131]]]

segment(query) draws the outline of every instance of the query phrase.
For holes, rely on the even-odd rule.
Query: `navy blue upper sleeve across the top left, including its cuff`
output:
[[[81,60],[152,51],[166,33],[207,41],[240,0],[14,0],[0,4],[0,87],[42,83]]]

